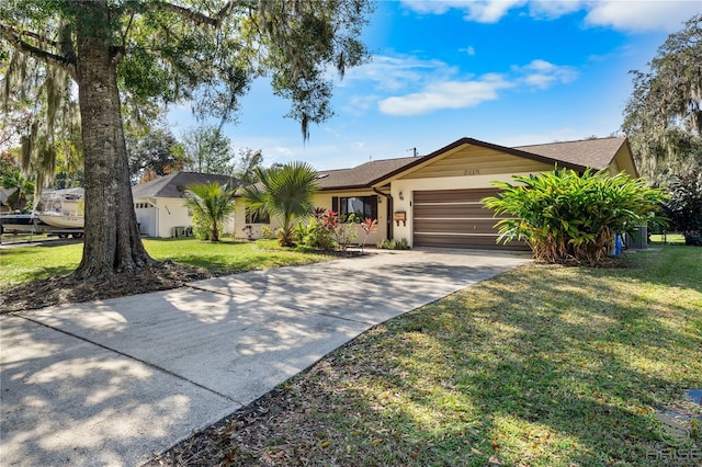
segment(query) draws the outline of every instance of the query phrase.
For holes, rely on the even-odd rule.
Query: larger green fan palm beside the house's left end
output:
[[[317,173],[305,162],[291,162],[270,169],[257,168],[260,183],[245,186],[241,196],[250,209],[267,213],[281,220],[278,241],[283,247],[294,244],[293,223],[309,216],[313,196],[317,192]]]

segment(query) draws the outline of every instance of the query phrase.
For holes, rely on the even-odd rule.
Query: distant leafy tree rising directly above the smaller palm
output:
[[[231,140],[216,126],[199,126],[183,134],[185,169],[199,173],[231,175]]]

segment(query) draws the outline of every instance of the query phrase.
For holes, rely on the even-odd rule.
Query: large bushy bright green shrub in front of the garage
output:
[[[501,192],[483,200],[496,215],[512,216],[496,224],[498,241],[523,240],[534,258],[550,263],[600,265],[614,236],[646,225],[665,200],[660,190],[623,172],[556,169],[512,180],[520,184],[492,182]]]

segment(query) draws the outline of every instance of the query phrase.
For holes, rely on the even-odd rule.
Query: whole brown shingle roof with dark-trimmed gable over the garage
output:
[[[629,143],[625,137],[610,137],[509,148],[479,139],[461,138],[422,157],[385,159],[365,162],[351,169],[319,171],[319,189],[342,190],[377,186],[380,183],[389,181],[393,176],[417,166],[426,164],[463,145],[480,146],[539,162],[557,163],[562,167],[584,171],[588,168],[595,170],[607,168],[612,163],[620,148]]]

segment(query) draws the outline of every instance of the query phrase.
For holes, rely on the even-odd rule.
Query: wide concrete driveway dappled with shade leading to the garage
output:
[[[371,327],[529,262],[419,250],[0,317],[5,466],[136,466]]]

